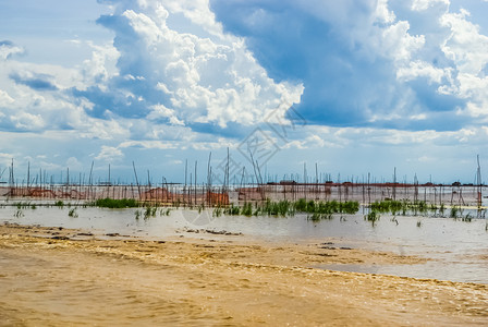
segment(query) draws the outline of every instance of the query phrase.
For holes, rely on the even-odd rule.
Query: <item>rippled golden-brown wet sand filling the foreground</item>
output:
[[[488,324],[488,286],[320,270],[425,259],[185,233],[141,240],[0,226],[0,326]]]

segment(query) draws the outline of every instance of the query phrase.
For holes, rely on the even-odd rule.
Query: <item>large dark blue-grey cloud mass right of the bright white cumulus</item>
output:
[[[465,106],[464,99],[439,94],[438,85],[426,80],[399,82],[393,62],[365,56],[367,45],[354,41],[343,26],[301,11],[291,1],[210,3],[224,29],[245,37],[271,77],[304,83],[302,102],[296,109],[312,123],[413,131],[462,126],[462,121],[455,119],[442,120],[440,124],[437,112],[452,114]],[[355,13],[358,20],[370,14],[367,5]],[[393,110],[402,117],[389,119]],[[408,120],[416,111],[434,114],[426,114],[422,122]]]

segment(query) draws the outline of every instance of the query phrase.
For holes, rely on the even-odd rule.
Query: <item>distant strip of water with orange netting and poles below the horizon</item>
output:
[[[376,201],[423,201],[427,204],[450,206],[488,207],[486,185],[475,184],[411,184],[411,183],[356,183],[320,182],[297,183],[282,181],[280,183],[231,185],[184,185],[162,183],[159,185],[133,184],[35,184],[35,185],[0,185],[2,198],[32,198],[47,201],[95,201],[99,198],[134,198],[141,202],[159,203],[161,205],[185,206],[221,206],[243,203],[259,203],[269,198],[278,201],[297,201],[300,198],[315,201],[356,201],[370,204]]]

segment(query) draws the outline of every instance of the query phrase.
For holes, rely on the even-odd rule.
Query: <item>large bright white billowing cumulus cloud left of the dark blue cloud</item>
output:
[[[171,123],[213,123],[220,128],[229,122],[249,125],[261,121],[282,102],[300,102],[301,84],[272,81],[242,39],[223,35],[216,28],[217,23],[202,19],[209,12],[208,3],[198,3],[161,4],[148,0],[130,8],[121,3],[122,20],[102,21],[115,33],[120,74],[144,77],[138,81],[144,88],[127,86],[131,96],[147,99],[150,108],[163,106],[170,110],[166,112],[171,112],[167,114]],[[192,23],[211,29],[213,36],[199,37],[172,29],[168,17],[184,8]],[[127,35],[127,27],[134,33]]]

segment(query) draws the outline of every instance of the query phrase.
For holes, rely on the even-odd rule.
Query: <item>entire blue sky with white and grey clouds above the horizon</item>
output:
[[[0,182],[13,160],[17,182],[473,183],[487,16],[487,0],[0,0]]]

